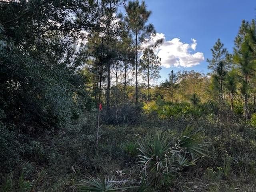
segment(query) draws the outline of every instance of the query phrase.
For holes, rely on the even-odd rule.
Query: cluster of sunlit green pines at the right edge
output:
[[[212,70],[211,90],[223,100],[229,94],[230,108],[234,108],[234,94],[241,94],[244,100],[244,119],[248,120],[248,97],[253,100],[255,112],[255,70],[256,70],[256,28],[255,20],[242,21],[234,40],[233,53],[228,53],[224,44],[217,40],[208,68]]]

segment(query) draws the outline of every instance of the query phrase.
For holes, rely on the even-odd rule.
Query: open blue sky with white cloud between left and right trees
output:
[[[156,37],[164,38],[158,56],[162,59],[161,78],[171,70],[209,72],[206,58],[220,38],[232,53],[234,38],[242,20],[256,18],[256,0],[146,0],[152,15],[149,22]]]

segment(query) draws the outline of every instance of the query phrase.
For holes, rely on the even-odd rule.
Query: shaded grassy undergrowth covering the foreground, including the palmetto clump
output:
[[[254,128],[248,127],[241,132],[239,126],[242,125],[237,122],[222,122],[217,126],[203,118],[170,120],[159,125],[149,122],[137,126],[103,125],[98,155],[95,156],[95,132],[90,126],[91,121],[82,119],[58,134],[34,138],[32,143],[36,143],[36,151],[40,154],[26,157],[12,173],[2,174],[1,191],[72,192],[81,190],[80,186],[84,186],[83,190],[89,190],[84,185],[86,181],[90,181],[86,184],[90,187],[97,187],[98,182],[98,187],[101,186],[103,191],[131,186],[140,187],[126,191],[168,189],[224,192],[228,188],[230,191],[254,191]],[[200,131],[195,131],[197,129],[191,127],[198,127],[198,121],[204,126]],[[208,158],[208,151],[211,158]],[[137,157],[137,154],[140,156]],[[173,169],[168,174],[166,168],[170,166],[166,166],[166,155],[173,157],[171,160],[175,157],[172,165],[175,163],[177,168],[179,164],[182,169]],[[186,166],[193,164],[193,160],[197,166]],[[143,161],[141,170],[134,166],[139,161]],[[152,177],[149,175],[141,178],[145,176],[145,170],[159,175],[159,180],[163,178],[164,183],[150,184]],[[159,170],[165,170],[164,174],[161,175]],[[91,178],[89,175],[92,175]],[[120,183],[111,183],[113,180],[108,176],[113,176]],[[135,183],[124,184],[124,181]]]

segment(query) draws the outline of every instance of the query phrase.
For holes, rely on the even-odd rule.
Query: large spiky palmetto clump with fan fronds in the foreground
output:
[[[163,181],[165,174],[195,165],[199,158],[208,157],[207,145],[203,142],[204,136],[200,130],[193,132],[192,128],[186,128],[176,144],[167,138],[158,131],[139,143],[140,174],[144,173],[154,184]]]

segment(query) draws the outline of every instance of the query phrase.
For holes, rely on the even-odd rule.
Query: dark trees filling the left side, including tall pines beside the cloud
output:
[[[159,78],[162,40],[147,44],[156,31],[144,1],[11,0],[0,10],[6,122],[62,127],[100,103],[108,115],[121,97],[138,104],[140,80],[149,90]]]

